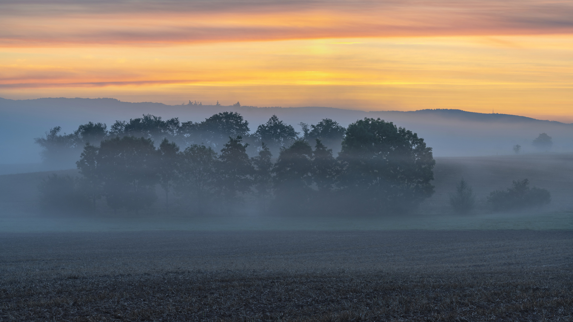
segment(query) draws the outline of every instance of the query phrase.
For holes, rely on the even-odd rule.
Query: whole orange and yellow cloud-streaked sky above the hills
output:
[[[0,97],[573,122],[573,2],[0,0]]]

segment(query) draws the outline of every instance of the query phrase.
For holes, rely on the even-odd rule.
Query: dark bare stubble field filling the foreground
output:
[[[1,321],[571,321],[573,232],[0,235]]]

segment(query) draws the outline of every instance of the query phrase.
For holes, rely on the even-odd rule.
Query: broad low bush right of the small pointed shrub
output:
[[[524,209],[547,205],[551,202],[551,194],[547,189],[530,189],[528,179],[514,180],[511,188],[490,193],[488,202],[493,210]]]

